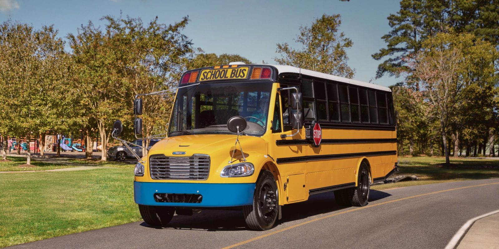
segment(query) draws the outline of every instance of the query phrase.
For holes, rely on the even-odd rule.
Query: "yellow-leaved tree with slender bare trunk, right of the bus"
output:
[[[430,110],[440,121],[446,163],[449,163],[447,133],[450,120],[466,103],[474,86],[495,84],[495,47],[472,34],[438,33],[422,43],[408,60],[414,80],[421,84]]]

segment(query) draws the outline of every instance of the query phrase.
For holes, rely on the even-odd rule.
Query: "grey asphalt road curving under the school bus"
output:
[[[479,185],[479,186],[477,186]],[[11,248],[444,248],[467,220],[499,209],[499,179],[374,191],[366,207],[340,207],[333,193],[286,205],[269,231],[248,231],[242,212],[175,216],[168,228],[143,222]]]

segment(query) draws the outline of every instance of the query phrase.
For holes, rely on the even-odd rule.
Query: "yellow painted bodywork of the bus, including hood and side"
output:
[[[271,127],[274,112],[275,96],[279,96],[274,83],[270,94],[268,124]],[[280,125],[282,127],[282,124]],[[210,174],[207,180],[153,180],[149,175],[148,160],[144,176],[136,176],[138,182],[189,182],[189,183],[254,183],[260,170],[270,170],[276,179],[279,193],[279,205],[299,202],[308,199],[309,191],[345,183],[357,185],[357,173],[362,160],[367,160],[371,171],[371,180],[386,176],[397,162],[397,155],[353,156],[348,158],[306,160],[291,163],[277,163],[277,158],[304,157],[318,155],[336,155],[349,153],[368,153],[378,151],[396,151],[396,142],[378,143],[324,143],[324,139],[386,139],[396,138],[393,130],[338,129],[322,127],[323,143],[319,147],[313,144],[276,145],[278,140],[303,140],[306,138],[305,127],[293,137],[281,138],[281,134],[292,134],[296,130],[272,133],[268,128],[261,137],[240,136],[240,142],[246,159],[255,167],[253,175],[248,177],[221,177],[221,170],[228,165],[236,142],[236,135],[200,134],[179,135],[157,142],[149,151],[149,155],[164,154],[175,156],[174,151],[185,151],[183,156],[208,154],[211,158]],[[238,145],[239,149],[239,145]],[[242,155],[236,157],[235,163],[242,162]],[[284,190],[286,185],[286,190]],[[303,187],[303,185],[305,187]],[[286,198],[287,197],[287,198]]]

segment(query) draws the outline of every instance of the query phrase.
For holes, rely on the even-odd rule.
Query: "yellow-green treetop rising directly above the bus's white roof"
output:
[[[274,60],[282,65],[352,78],[355,70],[347,65],[346,48],[353,42],[343,32],[338,33],[340,25],[339,14],[323,14],[310,27],[300,27],[295,41],[302,45],[301,50],[291,48],[288,43],[277,43],[276,52],[281,54],[281,58],[275,57]]]

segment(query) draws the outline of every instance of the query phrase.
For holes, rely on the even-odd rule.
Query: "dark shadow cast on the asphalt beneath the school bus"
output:
[[[374,202],[389,196],[391,195],[388,193],[371,189],[369,201]],[[275,225],[278,226],[286,222],[302,220],[347,208],[349,207],[336,204],[333,192],[312,195],[308,198],[308,201],[283,206],[282,219],[277,220]],[[141,223],[140,226],[154,229],[200,230],[207,232],[248,230],[241,210],[208,209],[193,216],[176,215],[166,227],[151,227],[145,222]]]

